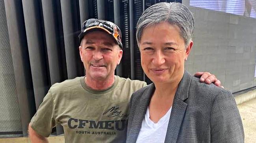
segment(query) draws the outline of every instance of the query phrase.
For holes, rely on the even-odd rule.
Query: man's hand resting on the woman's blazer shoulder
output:
[[[216,86],[224,89],[224,87],[221,85],[220,80],[218,80],[216,76],[214,74],[211,74],[210,72],[196,72],[194,76],[200,78],[201,82],[204,82],[206,84],[214,83]]]

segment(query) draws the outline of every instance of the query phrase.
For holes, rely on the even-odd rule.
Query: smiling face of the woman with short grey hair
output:
[[[144,72],[154,83],[179,82],[192,45],[191,41],[186,50],[179,27],[168,22],[144,28],[139,42]]]

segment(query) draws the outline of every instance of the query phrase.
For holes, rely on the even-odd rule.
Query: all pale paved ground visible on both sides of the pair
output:
[[[256,98],[237,105],[245,131],[245,143],[256,143]],[[5,138],[0,143],[30,143],[28,138]],[[49,143],[64,143],[64,136],[52,136]]]

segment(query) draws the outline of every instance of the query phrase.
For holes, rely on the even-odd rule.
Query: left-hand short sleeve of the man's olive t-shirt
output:
[[[39,106],[36,114],[31,119],[30,125],[37,134],[49,137],[52,132],[52,128],[56,126],[54,116],[54,99],[49,91]]]

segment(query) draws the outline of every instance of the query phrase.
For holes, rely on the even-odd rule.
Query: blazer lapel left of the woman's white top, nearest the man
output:
[[[142,125],[142,121],[145,117],[146,111],[148,109],[148,105],[149,105],[149,101],[151,100],[151,96],[153,94],[153,92],[155,91],[155,85],[153,83],[151,83],[150,85],[148,85],[148,88],[144,91],[144,93],[142,94],[141,98],[140,98],[140,102],[136,107],[136,111],[134,114],[134,118],[131,128],[130,128],[130,133],[129,133],[129,137],[127,137],[127,139],[129,139],[129,143],[135,143],[137,138],[138,138],[138,134],[140,132],[140,128]]]

